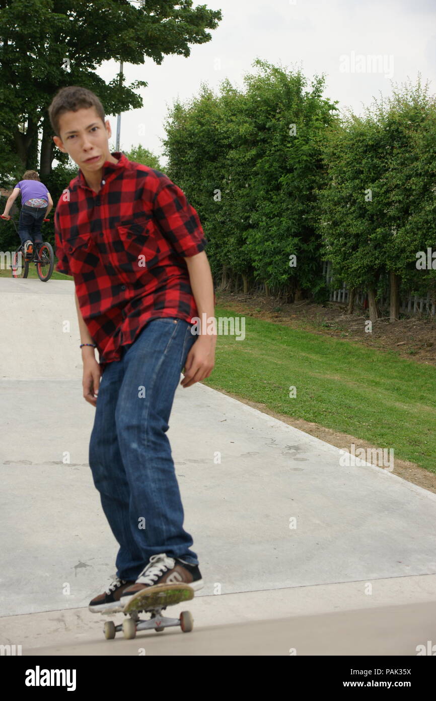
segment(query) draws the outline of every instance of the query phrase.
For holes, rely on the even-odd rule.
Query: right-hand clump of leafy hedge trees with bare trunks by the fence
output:
[[[374,100],[365,116],[338,121],[323,147],[323,257],[351,299],[357,287],[367,290],[372,320],[381,291],[391,293],[395,321],[401,289],[435,287],[435,271],[416,269],[416,253],[435,240],[435,116],[435,97],[418,79]]]

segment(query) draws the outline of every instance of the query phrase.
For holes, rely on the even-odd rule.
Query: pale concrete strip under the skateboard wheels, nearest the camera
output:
[[[436,576],[290,587],[240,594],[196,595],[185,608],[194,629],[169,628],[134,640],[104,639],[108,616],[87,608],[0,618],[3,644],[22,655],[416,655],[436,644]],[[395,606],[392,602],[395,601]],[[118,613],[111,616],[122,622]],[[435,648],[436,649],[436,648]]]

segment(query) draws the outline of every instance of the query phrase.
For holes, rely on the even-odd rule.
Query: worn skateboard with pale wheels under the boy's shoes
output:
[[[161,615],[162,610],[167,606],[180,604],[181,601],[189,601],[194,598],[194,590],[188,584],[161,584],[145,589],[134,594],[129,599],[122,613],[129,616],[121,625],[115,625],[111,620],[104,624],[104,636],[106,640],[115,638],[115,634],[122,630],[124,637],[132,639],[138,630],[148,630],[154,628],[157,633],[163,632],[165,628],[177,625],[184,633],[189,633],[194,627],[194,619],[190,611],[182,611],[180,618],[167,618]],[[104,612],[102,612],[104,613]],[[148,620],[140,620],[140,613],[150,613]],[[115,615],[115,611],[106,613]]]

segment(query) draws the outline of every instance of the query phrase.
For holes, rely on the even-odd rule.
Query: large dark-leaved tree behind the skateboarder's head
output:
[[[135,90],[120,74],[105,83],[96,69],[104,61],[143,64],[150,57],[188,57],[190,44],[211,39],[220,11],[192,0],[3,0],[0,7],[0,147],[14,151],[23,169],[50,173],[55,154],[47,109],[59,88],[80,85],[98,95],[107,114],[142,107]],[[25,123],[25,129],[20,125]],[[40,167],[37,168],[41,133]],[[59,154],[56,158],[62,161]],[[0,182],[8,179],[0,152]]]

